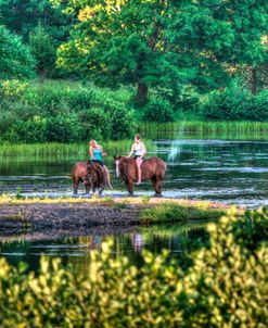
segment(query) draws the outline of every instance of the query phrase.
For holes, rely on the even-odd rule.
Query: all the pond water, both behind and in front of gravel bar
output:
[[[217,140],[217,139],[163,139],[155,141],[155,151],[149,153],[161,156],[167,162],[164,197],[200,199],[246,207],[268,204],[268,141],[261,140]],[[78,161],[85,161],[87,154],[74,156],[47,157],[0,157],[0,192],[23,195],[72,195],[71,171]],[[112,169],[112,156],[105,159]],[[112,175],[113,191],[106,195],[126,195],[126,189]],[[80,187],[80,195],[85,190]],[[153,194],[151,184],[139,186],[137,194]],[[114,240],[114,254],[126,254],[136,263],[141,263],[141,249],[158,253],[169,249],[173,256],[183,264],[182,253],[186,244],[194,244],[204,238],[201,228],[188,227],[183,232],[171,227],[163,231],[133,229],[122,235],[103,236],[89,234],[76,238],[35,239],[1,238],[0,255],[11,263],[26,261],[31,268],[38,266],[41,254],[61,256],[64,262],[76,268],[85,269],[89,253],[99,249],[106,237]],[[183,253],[184,254],[184,253]]]

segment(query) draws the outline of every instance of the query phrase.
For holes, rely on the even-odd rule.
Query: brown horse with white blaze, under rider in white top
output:
[[[123,181],[126,184],[129,194],[133,194],[133,186],[138,180],[136,161],[125,156],[115,156],[114,168],[115,176],[117,178],[122,177]],[[155,195],[161,195],[162,193],[162,185],[166,174],[166,163],[158,157],[150,157],[144,160],[141,164],[141,180],[152,180]]]

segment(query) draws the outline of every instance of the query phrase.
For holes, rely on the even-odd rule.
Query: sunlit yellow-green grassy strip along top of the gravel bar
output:
[[[90,199],[85,198],[21,198],[18,194],[8,195],[3,194],[0,197],[0,206],[9,205],[10,207],[20,207],[27,205],[36,207],[38,212],[41,205],[51,205],[59,207],[62,204],[72,207],[73,205],[88,205],[90,207],[94,206],[105,206],[111,210],[119,212],[128,211],[129,216],[137,217],[137,223],[140,224],[159,224],[159,223],[187,223],[192,220],[208,220],[217,219],[222,216],[228,207],[221,204],[201,202],[201,201],[187,201],[187,200],[174,200],[174,199],[145,199],[145,198],[98,198],[93,197]],[[7,207],[7,206],[5,206]],[[48,207],[49,209],[49,207]],[[87,209],[87,207],[85,207]],[[17,213],[12,210],[12,217],[17,218],[23,217],[23,220],[27,220],[27,214],[23,216],[18,215],[22,212],[20,210]],[[119,213],[118,212],[118,213]],[[132,214],[131,214],[132,213]],[[46,216],[46,213],[41,214]],[[102,216],[100,212],[98,215]]]

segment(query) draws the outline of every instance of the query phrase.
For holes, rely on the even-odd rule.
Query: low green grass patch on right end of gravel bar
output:
[[[140,219],[143,223],[187,223],[197,219],[217,219],[225,213],[224,210],[209,209],[208,206],[169,203],[143,210]]]

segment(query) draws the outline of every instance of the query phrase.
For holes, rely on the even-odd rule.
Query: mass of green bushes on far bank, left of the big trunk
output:
[[[63,87],[64,86],[64,87]],[[0,92],[0,135],[18,142],[77,142],[126,139],[133,135],[135,115],[129,94],[79,84],[21,85],[4,83]]]

